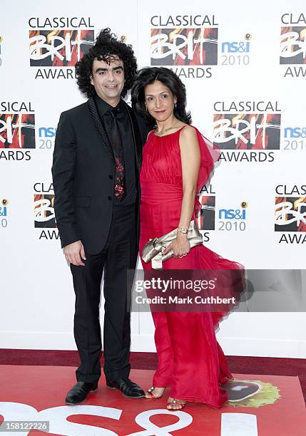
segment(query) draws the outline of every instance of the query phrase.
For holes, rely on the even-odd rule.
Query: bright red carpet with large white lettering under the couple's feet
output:
[[[118,390],[106,388],[102,379],[98,391],[91,393],[85,403],[66,406],[63,399],[75,382],[75,369],[3,365],[0,373],[0,422],[4,419],[50,422],[49,433],[34,430],[30,435],[305,435],[305,405],[298,378],[235,374],[239,381],[234,388],[228,387],[235,402],[228,403],[221,410],[188,403],[183,411],[168,412],[165,410],[166,395],[153,401],[130,400]],[[151,385],[152,373],[133,370],[131,377],[147,387]],[[27,435],[28,432],[17,434]]]

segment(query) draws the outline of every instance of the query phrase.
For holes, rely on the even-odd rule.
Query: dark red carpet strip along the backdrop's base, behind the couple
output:
[[[232,373],[297,376],[306,401],[306,359],[229,355],[227,360]],[[154,370],[156,364],[155,353],[131,353],[131,365],[134,369]],[[0,349],[0,365],[77,366],[78,353],[77,351]]]

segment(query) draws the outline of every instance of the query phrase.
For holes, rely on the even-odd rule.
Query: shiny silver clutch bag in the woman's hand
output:
[[[163,269],[163,262],[170,259],[173,256],[173,251],[170,250],[167,254],[163,255],[163,251],[170,245],[176,238],[178,229],[174,229],[171,232],[164,234],[162,237],[150,239],[143,247],[142,259],[146,264],[151,261],[153,269]],[[190,248],[193,246],[202,245],[203,239],[200,231],[195,224],[195,221],[190,222],[190,226],[187,233],[187,238],[190,244]]]

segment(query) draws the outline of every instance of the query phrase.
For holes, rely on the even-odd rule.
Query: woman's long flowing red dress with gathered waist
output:
[[[183,199],[183,177],[180,160],[180,128],[175,133],[157,136],[153,131],[143,147],[141,169],[141,239],[140,253],[149,239],[160,237],[178,227]],[[195,128],[200,145],[198,190],[213,170],[213,157],[200,132]],[[198,199],[195,200],[195,212]],[[143,269],[151,269],[151,262]],[[187,256],[171,258],[163,269],[242,269],[239,264],[223,259],[205,247],[190,249]],[[220,408],[228,395],[221,383],[233,378],[225,355],[215,337],[215,327],[224,313],[152,312],[155,324],[155,346],[158,368],[153,386],[170,386],[170,396]]]

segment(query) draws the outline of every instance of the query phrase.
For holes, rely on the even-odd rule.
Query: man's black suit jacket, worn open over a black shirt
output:
[[[139,172],[148,128],[144,120],[124,104],[130,116],[135,145],[139,237]],[[52,176],[56,224],[62,247],[81,240],[90,254],[103,249],[111,227],[114,174],[114,160],[98,135],[88,103],[61,113]]]

